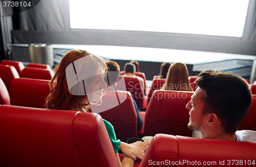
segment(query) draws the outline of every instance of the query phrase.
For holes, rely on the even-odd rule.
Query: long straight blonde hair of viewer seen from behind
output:
[[[166,81],[161,90],[193,91],[188,80],[188,70],[184,63],[170,65]]]

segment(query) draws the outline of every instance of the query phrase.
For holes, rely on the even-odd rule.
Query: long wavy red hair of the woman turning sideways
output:
[[[74,49],[65,54],[58,66],[55,68],[55,74],[52,80],[49,82],[50,94],[46,99],[45,107],[48,109],[62,109],[62,110],[80,110],[82,106],[87,106],[87,112],[91,112],[90,104],[80,103],[87,98],[85,95],[72,95],[68,88],[66,68],[72,64],[74,61],[86,57],[87,55],[93,55],[94,59],[104,68],[104,72],[108,70],[103,59],[97,57],[96,55],[80,49]],[[84,71],[86,72],[86,71]],[[81,111],[81,110],[80,110]]]

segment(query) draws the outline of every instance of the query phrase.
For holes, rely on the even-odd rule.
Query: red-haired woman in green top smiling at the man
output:
[[[91,105],[100,104],[103,88],[106,84],[103,77],[107,71],[104,61],[85,50],[71,50],[64,55],[55,68],[55,74],[49,82],[50,94],[46,108],[77,110],[91,113]],[[148,143],[135,142],[126,144],[117,140],[113,126],[103,120],[113,145],[118,166],[133,166],[134,160],[144,156]],[[89,136],[90,137],[90,136]],[[120,162],[118,150],[124,153]]]

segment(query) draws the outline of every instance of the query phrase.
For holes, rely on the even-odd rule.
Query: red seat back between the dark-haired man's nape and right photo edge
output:
[[[252,104],[249,114],[244,118],[239,130],[254,130],[256,131],[256,95],[252,95]]]

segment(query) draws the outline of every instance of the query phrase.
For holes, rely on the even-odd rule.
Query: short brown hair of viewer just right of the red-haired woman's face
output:
[[[115,84],[116,78],[119,76],[120,66],[114,61],[106,61],[106,66],[109,68],[107,77],[109,86],[111,86]]]

